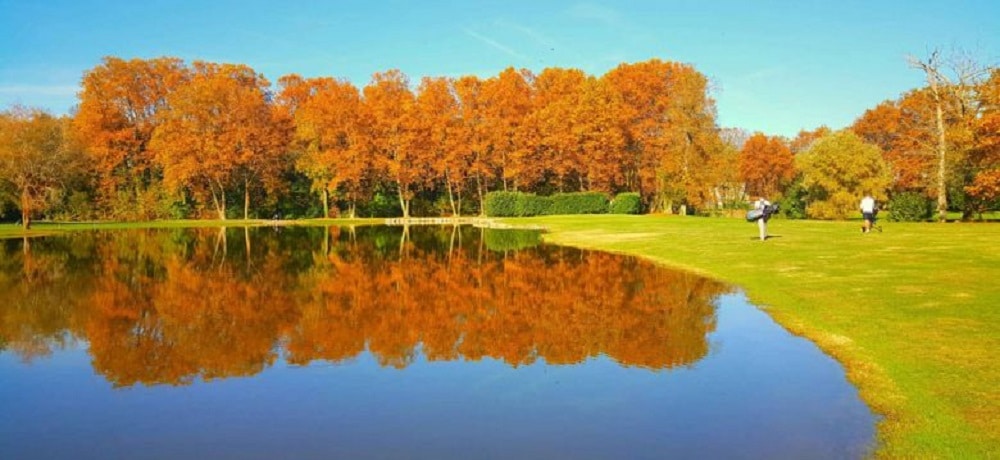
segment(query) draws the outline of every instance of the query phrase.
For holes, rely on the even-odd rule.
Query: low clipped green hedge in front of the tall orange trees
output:
[[[557,193],[539,196],[521,192],[486,194],[486,215],[490,217],[530,217],[562,214],[638,214],[638,193],[622,193],[608,202],[600,192]]]

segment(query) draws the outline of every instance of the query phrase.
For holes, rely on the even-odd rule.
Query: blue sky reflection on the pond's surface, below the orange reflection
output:
[[[862,456],[873,420],[840,366],[741,295],[718,308],[709,356],[665,371],[419,354],[399,370],[364,353],[113,390],[82,349],[32,364],[3,353],[0,457]]]

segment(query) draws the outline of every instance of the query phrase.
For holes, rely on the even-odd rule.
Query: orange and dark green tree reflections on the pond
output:
[[[0,346],[73,337],[113,384],[253,375],[369,351],[402,368],[601,354],[666,369],[708,351],[725,287],[629,257],[486,249],[479,229],[218,229],[5,241]],[[19,244],[20,243],[20,244]]]

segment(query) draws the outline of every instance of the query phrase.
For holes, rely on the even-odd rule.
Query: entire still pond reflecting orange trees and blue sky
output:
[[[857,458],[732,288],[472,227],[0,240],[0,458]]]

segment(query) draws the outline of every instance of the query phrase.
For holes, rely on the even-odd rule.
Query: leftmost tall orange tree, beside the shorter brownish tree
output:
[[[94,161],[102,202],[119,218],[162,214],[149,143],[168,96],[189,78],[180,59],[106,57],[83,76],[74,129]]]

